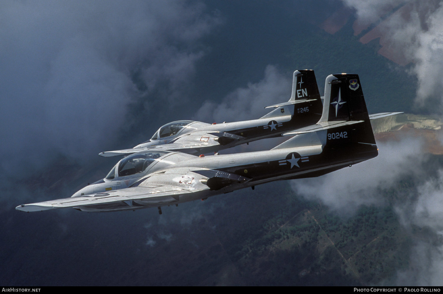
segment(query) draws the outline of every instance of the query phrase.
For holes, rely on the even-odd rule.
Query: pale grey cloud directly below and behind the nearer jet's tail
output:
[[[416,150],[422,145],[420,139],[412,138],[378,143],[377,157],[324,176],[292,180],[291,187],[306,199],[320,200],[342,215],[351,215],[363,204],[383,204],[380,189],[391,187],[401,176],[421,174],[426,156]]]

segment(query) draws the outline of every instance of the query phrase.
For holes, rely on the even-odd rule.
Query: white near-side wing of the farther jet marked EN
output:
[[[152,145],[146,147],[138,147],[131,149],[122,149],[114,151],[106,151],[99,153],[103,157],[111,157],[117,155],[129,155],[140,151],[180,151],[189,154],[203,154],[212,151],[218,151],[218,147],[229,144],[234,141],[241,141],[245,137],[237,136],[225,132],[198,132],[194,134],[183,135],[171,143],[163,145]]]

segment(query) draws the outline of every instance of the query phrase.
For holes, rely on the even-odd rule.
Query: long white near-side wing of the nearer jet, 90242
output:
[[[22,204],[16,209],[35,212],[56,208],[76,208],[86,212],[110,212],[159,207],[207,198],[226,192],[224,188],[230,185],[242,184],[249,180],[244,176],[218,170],[170,169],[148,174],[129,188]]]

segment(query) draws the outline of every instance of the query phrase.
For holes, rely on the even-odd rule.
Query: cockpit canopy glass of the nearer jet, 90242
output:
[[[167,154],[164,151],[135,153],[123,158],[118,164],[118,176],[131,176],[144,172],[155,159]]]

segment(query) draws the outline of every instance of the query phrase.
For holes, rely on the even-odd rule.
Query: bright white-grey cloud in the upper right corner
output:
[[[377,24],[389,42],[389,51],[412,62],[418,80],[416,105],[431,112],[443,111],[443,7],[442,1],[343,0],[355,9],[357,22]],[[395,13],[393,8],[398,9]],[[383,21],[381,21],[383,19]],[[380,23],[378,23],[381,21]],[[439,103],[435,107],[435,101]]]

